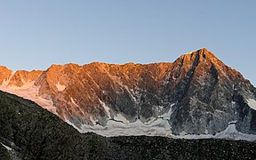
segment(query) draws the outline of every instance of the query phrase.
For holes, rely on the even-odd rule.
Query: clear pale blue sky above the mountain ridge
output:
[[[202,47],[256,84],[255,0],[0,0],[0,65],[174,61]]]

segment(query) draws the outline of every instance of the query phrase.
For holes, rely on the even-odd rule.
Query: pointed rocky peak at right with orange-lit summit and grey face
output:
[[[205,49],[181,56],[173,66],[164,92],[176,101],[172,132],[212,134],[236,120],[236,129],[255,133],[255,110],[246,101],[255,100],[255,88],[239,72]]]

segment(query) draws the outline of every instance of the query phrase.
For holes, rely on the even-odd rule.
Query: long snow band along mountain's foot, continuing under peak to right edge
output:
[[[216,135],[212,134],[188,134],[187,132],[180,132],[180,135],[174,135],[171,131],[171,126],[169,122],[163,118],[156,118],[155,121],[152,121],[151,124],[143,124],[140,119],[134,123],[129,123],[127,119],[122,115],[118,115],[121,120],[126,123],[116,122],[109,120],[106,126],[100,125],[87,125],[82,124],[81,128],[77,128],[75,124],[72,124],[70,121],[67,121],[68,124],[72,125],[79,132],[95,132],[102,136],[113,137],[113,136],[163,136],[173,139],[228,139],[228,140],[247,140],[254,141],[256,140],[256,135],[246,134],[236,131],[236,121],[228,123],[228,127],[217,133]],[[115,120],[117,117],[115,116]],[[128,123],[127,123],[128,122]]]

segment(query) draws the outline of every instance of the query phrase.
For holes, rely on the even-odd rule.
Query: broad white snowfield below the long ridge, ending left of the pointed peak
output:
[[[148,135],[148,136],[164,136],[173,137],[171,126],[169,124],[172,115],[172,106],[168,113],[159,118],[152,119],[150,122],[143,124],[140,119],[135,122],[129,122],[123,115],[117,114],[113,119],[109,119],[106,126],[82,124],[77,128],[75,124],[67,121],[68,124],[75,126],[79,132],[95,132],[102,136],[131,136],[131,135]],[[104,107],[104,105],[102,105]],[[105,107],[104,107],[105,108]],[[108,107],[105,109],[109,109]],[[110,114],[110,113],[109,113]],[[110,116],[109,116],[110,117]]]

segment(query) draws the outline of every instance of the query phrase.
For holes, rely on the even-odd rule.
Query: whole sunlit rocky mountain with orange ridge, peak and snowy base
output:
[[[256,89],[204,48],[173,63],[0,69],[1,90],[35,101],[80,132],[215,135],[236,122],[239,133],[256,134]]]

